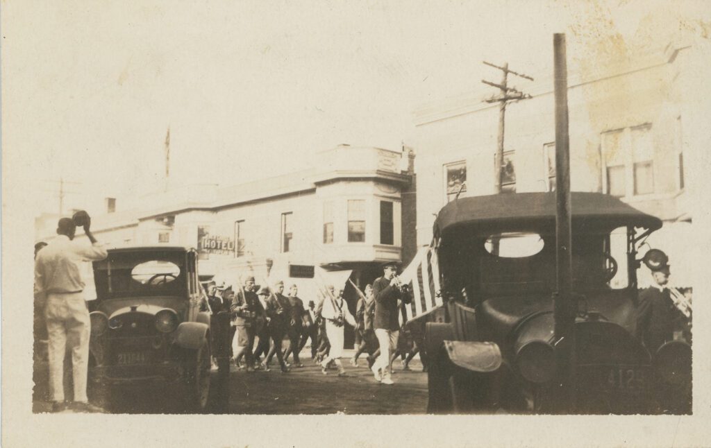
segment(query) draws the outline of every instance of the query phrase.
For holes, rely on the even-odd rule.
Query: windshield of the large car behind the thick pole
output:
[[[573,287],[578,291],[626,288],[626,228],[574,232]],[[508,232],[442,241],[443,270],[453,290],[469,297],[552,293],[555,290],[555,234]]]

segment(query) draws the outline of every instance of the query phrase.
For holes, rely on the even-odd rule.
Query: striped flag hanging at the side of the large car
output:
[[[400,274],[400,280],[412,293],[412,302],[405,304],[405,315],[400,313],[400,324],[442,305],[437,252],[431,246],[419,248],[410,266]]]

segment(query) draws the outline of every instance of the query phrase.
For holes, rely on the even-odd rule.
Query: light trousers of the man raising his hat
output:
[[[69,349],[72,352],[74,400],[86,402],[91,322],[84,293],[48,294],[45,317],[52,399],[64,401],[64,355]]]

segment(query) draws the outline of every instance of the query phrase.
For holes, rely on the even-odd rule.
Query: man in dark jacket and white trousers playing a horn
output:
[[[383,277],[373,282],[373,296],[375,297],[375,337],[380,345],[380,356],[375,360],[371,370],[375,379],[383,384],[392,384],[390,378],[390,356],[397,348],[397,335],[400,329],[400,320],[397,312],[400,310],[398,301],[412,302],[412,296],[400,286],[397,277],[397,263],[383,264]]]

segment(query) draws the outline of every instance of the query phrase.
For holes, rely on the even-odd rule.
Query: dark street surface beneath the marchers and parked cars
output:
[[[411,371],[403,371],[400,359],[395,361],[392,376],[395,384],[385,385],[373,378],[365,357],[360,366],[353,367],[348,361],[353,350],[345,350],[343,365],[348,376],[339,377],[336,370],[321,373],[321,367],[309,358],[308,351],[302,359],[303,368],[294,368],[282,373],[276,362],[271,371],[247,373],[235,366],[230,369],[230,391],[227,413],[230,414],[424,414],[427,409],[427,373],[422,373],[422,364],[415,358],[410,363]],[[274,360],[276,361],[276,360]],[[37,372],[39,373],[39,372]],[[36,378],[42,378],[37,375]],[[216,386],[217,371],[211,381]],[[46,383],[38,381],[38,388],[46,389]],[[110,413],[181,413],[180,400],[174,388],[134,387],[123,388],[114,393],[109,403],[102,394],[92,398],[95,405]],[[50,404],[42,400],[36,390],[33,411],[49,412]],[[224,393],[223,388],[213,387],[213,402]],[[94,395],[96,396],[96,395]],[[71,409],[65,413],[73,412]],[[210,408],[208,412],[217,412]]]

